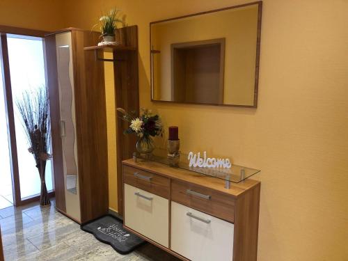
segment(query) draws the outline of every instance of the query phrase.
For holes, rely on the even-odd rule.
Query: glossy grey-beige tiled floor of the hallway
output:
[[[128,255],[120,255],[77,223],[52,207],[37,204],[0,210],[3,251],[12,260],[118,260],[177,261],[168,253],[145,244]]]

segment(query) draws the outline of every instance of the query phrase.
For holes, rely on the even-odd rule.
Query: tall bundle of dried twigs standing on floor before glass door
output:
[[[30,145],[28,150],[35,159],[40,175],[40,206],[46,207],[51,205],[45,180],[46,161],[52,158],[49,154],[51,125],[46,87],[38,88],[33,93],[23,93],[22,99],[17,100],[16,104]]]

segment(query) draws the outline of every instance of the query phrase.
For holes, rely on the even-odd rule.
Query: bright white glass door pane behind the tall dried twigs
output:
[[[30,146],[16,103],[22,99],[24,93],[35,95],[38,88],[45,87],[44,50],[42,38],[7,35],[7,43],[15,112],[19,184],[21,199],[24,199],[40,194],[41,182],[33,155],[28,151]],[[51,161],[47,161],[46,164],[46,185],[47,191],[52,191]]]

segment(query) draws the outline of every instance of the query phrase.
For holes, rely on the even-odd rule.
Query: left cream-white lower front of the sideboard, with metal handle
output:
[[[125,184],[125,226],[169,247],[169,200]]]

